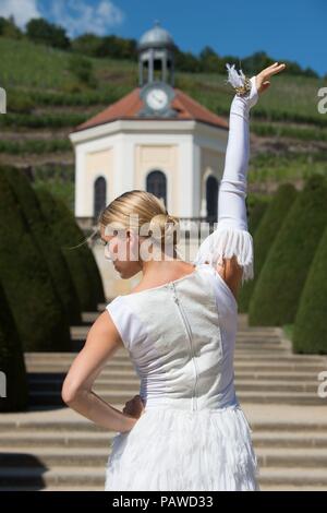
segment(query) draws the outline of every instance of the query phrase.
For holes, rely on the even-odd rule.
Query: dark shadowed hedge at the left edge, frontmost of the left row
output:
[[[5,375],[5,397],[0,397],[0,413],[26,409],[28,387],[22,342],[1,284],[0,371]]]

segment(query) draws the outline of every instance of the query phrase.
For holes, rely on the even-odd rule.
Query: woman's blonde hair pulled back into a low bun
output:
[[[109,203],[97,223],[106,228],[132,229],[141,237],[149,237],[165,252],[165,243],[175,246],[180,239],[179,218],[168,214],[161,201],[153,193],[134,189],[124,192]],[[167,247],[166,246],[166,247]]]

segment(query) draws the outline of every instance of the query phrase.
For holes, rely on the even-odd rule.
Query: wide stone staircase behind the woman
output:
[[[85,314],[84,321],[96,315]],[[88,330],[72,329],[76,347]],[[25,355],[32,406],[0,415],[0,490],[104,490],[114,432],[63,406],[61,384],[74,357]],[[250,327],[246,317],[239,317],[235,385],[253,429],[263,490],[327,490],[327,399],[317,394],[324,370],[327,357],[292,355],[280,329]],[[138,393],[124,349],[94,390],[119,408]]]

